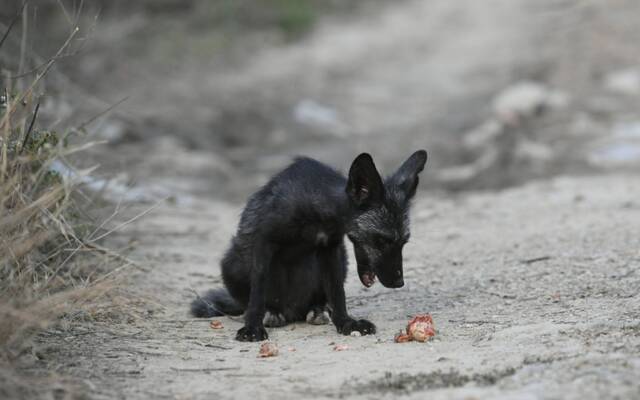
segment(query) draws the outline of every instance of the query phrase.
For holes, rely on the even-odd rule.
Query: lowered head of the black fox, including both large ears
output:
[[[418,150],[385,180],[367,153],[351,164],[346,191],[353,217],[347,236],[353,243],[358,276],[366,287],[376,277],[388,288],[404,285],[402,248],[410,235],[409,207],[426,162],[427,152]]]

